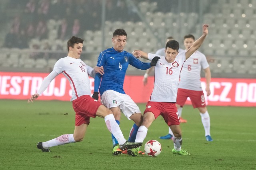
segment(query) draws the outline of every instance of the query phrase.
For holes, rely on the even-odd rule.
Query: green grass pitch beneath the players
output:
[[[144,111],[145,104],[139,106]],[[182,117],[188,123],[181,124],[182,149],[191,156],[172,154],[172,141],[159,139],[168,133],[162,117],[152,123],[140,148],[156,139],[162,144],[158,157],[112,156],[111,134],[99,117],[91,119],[84,141],[52,147],[51,152],[36,149],[40,141],[73,133],[71,102],[0,100],[0,169],[256,169],[256,108],[208,106],[208,111],[213,142],[205,140],[198,110],[192,106],[183,109]],[[132,125],[122,115],[120,128],[126,139]]]

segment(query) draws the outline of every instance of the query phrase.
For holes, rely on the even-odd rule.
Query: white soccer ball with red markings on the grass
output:
[[[144,147],[145,154],[148,156],[156,157],[161,151],[161,144],[156,140],[147,141]]]

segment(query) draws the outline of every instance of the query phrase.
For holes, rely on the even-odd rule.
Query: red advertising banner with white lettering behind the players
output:
[[[29,99],[37,92],[47,75],[48,73],[0,72],[0,99]],[[154,77],[148,77],[146,86],[143,85],[142,78],[143,76],[126,76],[124,80],[124,91],[136,103],[148,102],[154,87]],[[90,78],[90,82],[93,93],[94,79]],[[205,89],[204,78],[202,89]],[[212,78],[210,89],[211,95],[205,96],[209,106],[256,106],[256,79]],[[38,100],[69,101],[70,98],[70,84],[60,74]],[[189,98],[186,104],[191,104]]]

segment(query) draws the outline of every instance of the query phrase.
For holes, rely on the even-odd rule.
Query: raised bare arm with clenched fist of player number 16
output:
[[[203,35],[194,42],[194,44],[190,47],[190,49],[188,49],[188,51],[186,51],[186,59],[188,59],[188,57],[196,52],[196,50],[199,49],[199,47],[202,45],[204,39],[206,38],[206,35],[208,34],[208,27],[208,24],[203,25]]]

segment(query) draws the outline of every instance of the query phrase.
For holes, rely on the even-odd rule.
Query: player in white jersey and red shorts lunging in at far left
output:
[[[46,90],[50,82],[62,73],[68,79],[72,88],[71,101],[73,109],[76,112],[74,133],[61,135],[50,141],[39,142],[36,145],[37,148],[41,149],[42,152],[50,152],[50,147],[82,141],[90,123],[90,117],[96,116],[105,119],[108,130],[116,137],[122,150],[141,145],[142,143],[130,143],[126,141],[120,127],[115,121],[112,111],[90,96],[91,89],[88,75],[94,77],[95,73],[102,74],[103,68],[97,67],[94,70],[80,59],[83,42],[83,39],[74,36],[68,40],[68,56],[56,62],[52,72],[43,80],[37,93],[33,94],[28,100],[28,103],[36,100]]]

